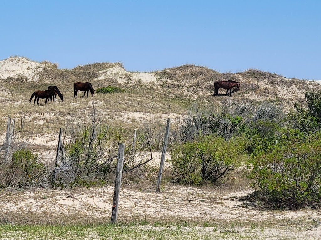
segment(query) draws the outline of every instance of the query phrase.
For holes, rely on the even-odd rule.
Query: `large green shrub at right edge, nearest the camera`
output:
[[[320,206],[321,132],[305,137],[298,130],[255,156],[248,178],[256,192],[252,200],[273,208]]]

